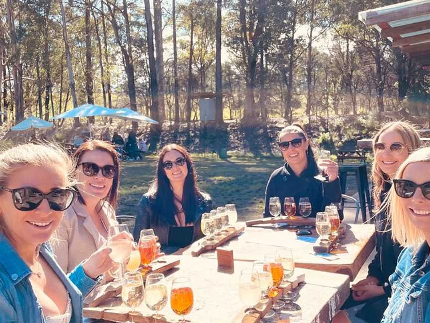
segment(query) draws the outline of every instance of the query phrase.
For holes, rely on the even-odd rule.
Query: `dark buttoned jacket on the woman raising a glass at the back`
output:
[[[285,197],[294,197],[296,206],[299,205],[301,197],[309,197],[312,205],[310,217],[315,217],[317,212],[325,210],[325,206],[330,203],[339,203],[342,198],[339,178],[330,182],[323,183],[314,178],[315,170],[307,167],[299,176],[296,176],[290,166],[285,163],[281,168],[276,169],[270,175],[266,186],[266,201],[264,208],[264,217],[272,216],[269,212],[270,197],[278,196],[281,205],[284,204]],[[284,208],[281,207],[282,214]],[[296,215],[299,215],[297,207]],[[343,214],[340,214],[343,219]]]

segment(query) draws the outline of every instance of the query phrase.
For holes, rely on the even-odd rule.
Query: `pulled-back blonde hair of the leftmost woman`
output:
[[[7,188],[10,177],[20,167],[46,165],[64,169],[66,187],[74,184],[72,178],[74,178],[75,166],[63,149],[55,144],[23,144],[0,153],[0,187]],[[0,190],[1,194],[4,194],[3,190]],[[2,214],[0,214],[0,232],[7,236]]]

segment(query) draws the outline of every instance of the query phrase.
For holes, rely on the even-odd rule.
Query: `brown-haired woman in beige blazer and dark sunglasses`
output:
[[[70,272],[108,238],[117,224],[119,158],[114,146],[101,140],[81,145],[73,154],[77,165],[78,198],[64,212],[52,247],[60,267]]]

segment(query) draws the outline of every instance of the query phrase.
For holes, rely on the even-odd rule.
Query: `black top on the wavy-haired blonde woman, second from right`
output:
[[[391,183],[386,182],[385,188],[380,195],[381,203],[385,200],[390,188]],[[375,215],[375,229],[376,255],[369,264],[369,276],[378,278],[379,284],[384,285],[384,283],[388,283],[388,277],[394,273],[397,258],[399,258],[399,254],[403,248],[391,238],[391,223],[387,221],[385,211]],[[390,296],[391,289],[386,293]]]

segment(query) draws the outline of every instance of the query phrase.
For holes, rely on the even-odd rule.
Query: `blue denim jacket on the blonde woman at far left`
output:
[[[40,255],[51,266],[69,292],[72,303],[70,323],[83,322],[82,294],[86,295],[96,281],[86,276],[82,264],[68,276],[55,261],[49,243],[40,247]],[[0,234],[0,322],[45,323],[42,307],[30,283],[31,270],[16,252],[10,241]]]

